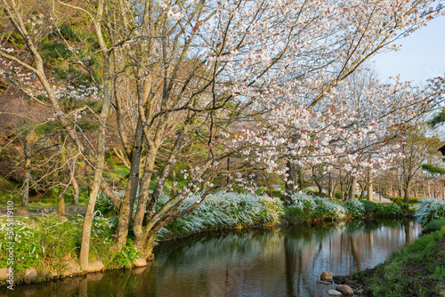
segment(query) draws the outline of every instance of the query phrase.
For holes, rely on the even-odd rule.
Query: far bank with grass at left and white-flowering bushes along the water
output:
[[[163,201],[159,202],[159,207],[162,203]],[[188,202],[190,203],[193,201]],[[285,209],[277,198],[216,193],[207,197],[195,212],[174,221],[166,229],[161,229],[157,240],[160,242],[208,230],[277,225],[283,223],[283,218],[294,223],[350,220],[362,218],[370,213],[378,215],[394,213],[394,210],[398,212],[397,215],[401,215],[398,206],[373,205],[360,201],[343,204],[340,201],[303,194],[296,196],[293,205]],[[109,249],[113,245],[112,237],[116,221],[113,216],[107,217],[96,213],[93,220],[89,269],[86,272],[80,271],[77,263],[80,246],[78,238],[83,218],[72,215],[69,219],[60,221],[56,216],[45,214],[15,218],[15,245],[12,257],[9,253],[2,253],[0,256],[2,284],[10,285],[7,282],[11,277],[9,259],[13,260],[12,284],[44,282],[107,269],[132,269],[143,267],[147,265],[147,260],[150,261],[139,258],[140,253],[134,249],[131,237],[122,251],[109,254]],[[3,228],[0,233],[4,232],[1,234],[2,246],[9,246],[6,240],[7,221],[1,223]]]

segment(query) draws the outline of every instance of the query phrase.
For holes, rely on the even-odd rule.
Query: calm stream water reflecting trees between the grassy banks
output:
[[[147,268],[20,285],[0,296],[324,296],[321,272],[373,267],[415,239],[415,221],[207,233],[162,243]]]

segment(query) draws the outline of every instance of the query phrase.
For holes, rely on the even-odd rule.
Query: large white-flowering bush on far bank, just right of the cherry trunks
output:
[[[162,207],[168,197],[158,200]],[[180,210],[200,199],[200,195],[188,198]],[[279,223],[283,204],[278,198],[219,191],[209,195],[193,212],[173,221],[159,230],[158,239],[171,235],[186,235],[203,229],[248,227]]]

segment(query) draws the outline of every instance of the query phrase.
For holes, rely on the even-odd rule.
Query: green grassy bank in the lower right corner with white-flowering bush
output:
[[[368,296],[445,296],[445,202],[428,198],[418,206],[422,237],[372,269],[335,280],[361,287]]]

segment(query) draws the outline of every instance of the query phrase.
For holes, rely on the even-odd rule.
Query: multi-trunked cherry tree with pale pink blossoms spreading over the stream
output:
[[[359,172],[358,166],[369,161],[357,160],[359,148],[354,143],[357,146],[370,137],[369,131],[376,127],[394,126],[401,120],[386,116],[385,125],[372,118],[362,126],[355,124],[360,115],[348,103],[354,98],[345,79],[376,52],[397,49],[392,44],[395,39],[440,13],[440,7],[430,8],[431,3],[99,0],[77,6],[59,1],[58,5],[90,20],[98,40],[102,105],[96,115],[97,146],[92,147],[73,118],[81,110],[66,114],[45,75],[37,46],[39,31],[34,34],[26,24],[20,1],[2,0],[4,19],[24,45],[4,46],[0,57],[36,74],[57,120],[95,169],[85,214],[82,269],[87,267],[99,185],[119,210],[117,249],[125,245],[133,221],[134,245],[142,257],[149,257],[159,229],[198,207],[223,185],[212,183],[217,174],[237,173],[233,181],[245,183],[249,176],[244,173],[258,165],[286,176],[281,160],[304,167],[333,164],[339,156],[348,160],[345,170]],[[57,13],[53,20],[60,19]],[[51,19],[44,20],[46,24]],[[48,23],[46,28],[51,26]],[[123,84],[128,85],[126,90]],[[403,84],[369,90],[367,104],[375,104],[373,110],[380,116],[385,116],[389,100],[409,108],[415,101],[403,91]],[[116,197],[101,177],[109,107],[116,113],[113,132],[130,164],[124,197]],[[190,184],[157,209],[166,178],[192,135],[205,149],[206,161],[185,173]],[[159,154],[161,148],[168,153]],[[87,153],[90,150],[94,153]],[[234,153],[242,156],[237,165],[222,169],[218,163]],[[157,162],[161,168],[155,181]],[[361,163],[353,166],[353,162]],[[151,181],[155,181],[153,192]],[[206,191],[183,208],[187,198],[203,190],[203,183]]]

